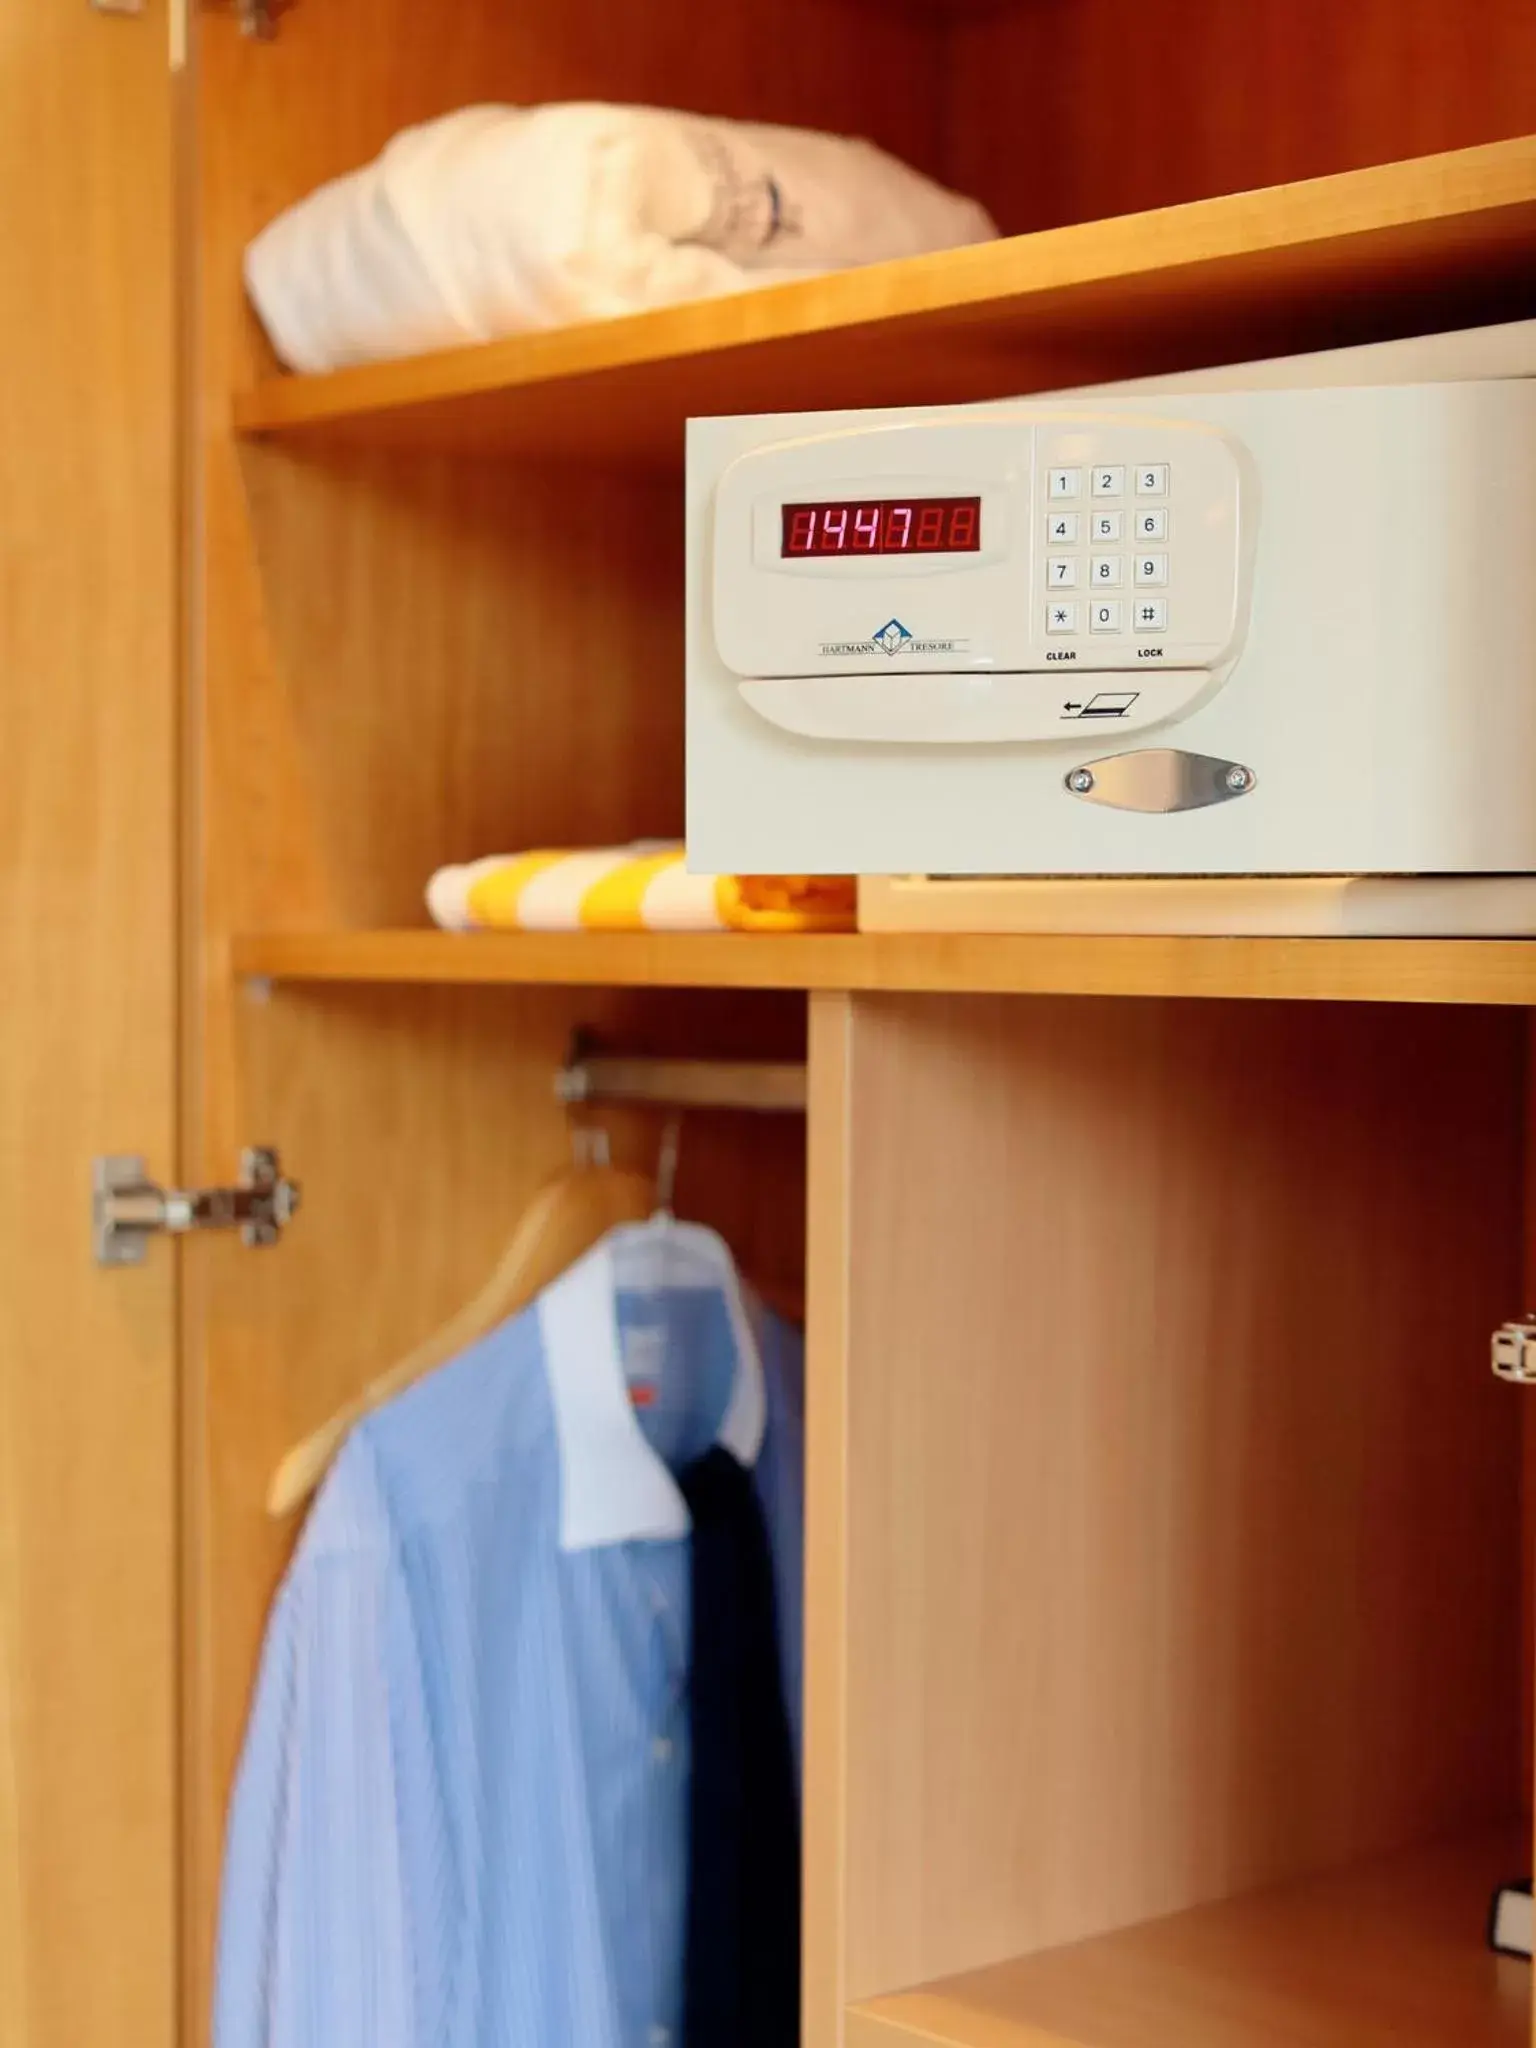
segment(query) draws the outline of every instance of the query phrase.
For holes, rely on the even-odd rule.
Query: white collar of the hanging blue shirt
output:
[[[713,1286],[735,1341],[731,1399],[715,1438],[756,1464],[768,1421],[762,1358],[729,1249],[696,1223],[639,1223],[608,1231],[539,1296],[545,1376],[559,1440],[561,1550],[686,1536],[688,1505],[639,1425],[625,1380],[616,1292],[621,1270],[645,1266],[659,1290]],[[625,1272],[625,1280],[629,1274]]]

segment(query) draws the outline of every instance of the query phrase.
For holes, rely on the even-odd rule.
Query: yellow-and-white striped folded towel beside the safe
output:
[[[426,907],[449,932],[852,932],[846,874],[688,874],[680,846],[492,854],[438,868]]]

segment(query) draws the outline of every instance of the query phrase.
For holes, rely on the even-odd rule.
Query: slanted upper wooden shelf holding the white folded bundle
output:
[[[1536,137],[479,348],[270,377],[242,434],[682,461],[690,414],[924,406],[1536,311]]]

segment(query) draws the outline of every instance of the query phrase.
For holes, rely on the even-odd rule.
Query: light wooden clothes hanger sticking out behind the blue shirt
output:
[[[281,1520],[303,1507],[365,1415],[526,1309],[616,1225],[643,1223],[655,1212],[655,1184],[649,1176],[608,1165],[606,1133],[598,1137],[598,1155],[586,1161],[578,1157],[571,1171],[535,1194],[479,1294],[283,1456],[266,1489],[268,1516]]]

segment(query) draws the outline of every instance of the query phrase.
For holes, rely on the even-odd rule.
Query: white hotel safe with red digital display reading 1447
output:
[[[1524,322],[690,422],[690,866],[909,877],[872,924],[1536,928],[1532,371]]]

